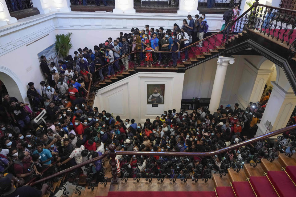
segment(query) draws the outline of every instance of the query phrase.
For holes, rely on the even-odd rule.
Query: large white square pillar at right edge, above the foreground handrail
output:
[[[261,121],[257,124],[258,130],[256,136],[265,134],[270,122],[270,130],[267,130],[266,133],[286,127],[296,106],[296,96],[294,92],[285,91],[276,82],[271,83],[273,89]]]

